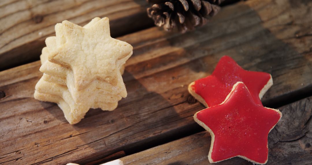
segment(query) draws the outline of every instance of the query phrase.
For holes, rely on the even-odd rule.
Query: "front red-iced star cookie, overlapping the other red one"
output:
[[[268,134],[281,117],[279,110],[255,103],[244,83],[237,82],[223,103],[195,113],[194,120],[211,134],[210,163],[241,157],[265,164]]]

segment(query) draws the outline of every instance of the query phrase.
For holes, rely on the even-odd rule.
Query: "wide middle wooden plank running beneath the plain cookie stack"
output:
[[[90,163],[201,130],[188,103],[188,83],[209,75],[222,55],[243,68],[272,74],[266,105],[312,91],[311,1],[250,0],[223,10],[186,34],[156,27],[118,39],[134,46],[124,82],[128,97],[112,112],[90,110],[69,125],[54,103],[33,98],[40,62],[0,72],[0,162]],[[284,103],[286,104],[286,103]]]

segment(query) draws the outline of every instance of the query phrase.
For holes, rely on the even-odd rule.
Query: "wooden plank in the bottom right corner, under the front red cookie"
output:
[[[311,164],[312,162],[312,97],[278,108],[283,113],[280,122],[268,137],[269,164]],[[211,164],[208,153],[209,132],[166,143],[121,158],[124,164]],[[232,158],[218,165],[252,164],[242,158]]]

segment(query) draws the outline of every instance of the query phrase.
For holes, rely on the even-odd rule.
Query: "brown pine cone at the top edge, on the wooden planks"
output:
[[[147,8],[147,13],[156,26],[166,31],[177,27],[181,33],[202,26],[217,14],[218,6],[224,0],[147,0],[155,3]]]

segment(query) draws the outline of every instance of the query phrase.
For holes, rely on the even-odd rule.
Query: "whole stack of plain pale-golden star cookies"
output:
[[[132,46],[110,37],[108,18],[94,18],[84,27],[69,21],[55,26],[42,49],[43,76],[34,97],[57,103],[70,124],[90,108],[114,110],[127,96],[121,77]]]

